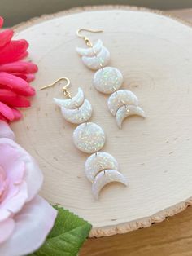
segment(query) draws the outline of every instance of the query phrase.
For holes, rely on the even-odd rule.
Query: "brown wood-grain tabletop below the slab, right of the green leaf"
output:
[[[80,256],[191,256],[192,207],[163,223],[123,235],[90,238]]]

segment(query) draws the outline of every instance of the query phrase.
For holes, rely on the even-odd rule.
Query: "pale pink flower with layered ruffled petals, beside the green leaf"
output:
[[[21,256],[37,250],[54,225],[56,210],[37,192],[42,173],[33,158],[12,139],[0,121],[0,255]]]

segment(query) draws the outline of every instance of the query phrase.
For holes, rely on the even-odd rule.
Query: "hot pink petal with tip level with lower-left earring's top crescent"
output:
[[[28,99],[6,89],[0,89],[0,101],[15,108],[27,108],[31,105]]]

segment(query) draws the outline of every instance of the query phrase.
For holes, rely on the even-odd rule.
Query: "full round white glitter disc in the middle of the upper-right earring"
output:
[[[120,88],[122,82],[123,76],[119,69],[106,67],[99,69],[94,74],[93,85],[96,90],[105,94],[111,94]]]

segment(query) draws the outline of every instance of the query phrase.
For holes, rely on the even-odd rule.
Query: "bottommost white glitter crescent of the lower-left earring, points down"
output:
[[[94,198],[98,199],[99,192],[111,182],[119,182],[127,186],[127,181],[124,178],[124,175],[121,174],[118,170],[103,170],[98,173],[98,175],[94,179],[94,183],[92,184],[92,192],[94,194]]]

